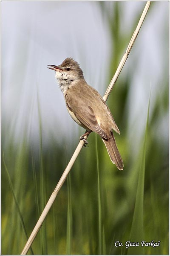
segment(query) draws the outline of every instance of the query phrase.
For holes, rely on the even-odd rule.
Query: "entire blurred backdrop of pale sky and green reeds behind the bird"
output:
[[[2,1],[1,254],[21,253],[84,132],[46,65],[75,58],[103,95],[144,6]],[[90,134],[28,254],[169,253],[168,22],[169,2],[151,3],[107,102],[124,170]]]

